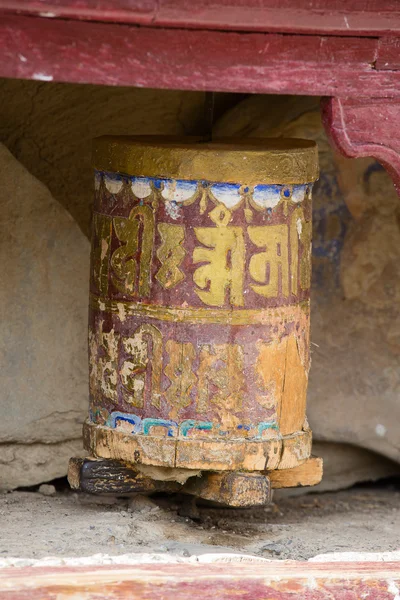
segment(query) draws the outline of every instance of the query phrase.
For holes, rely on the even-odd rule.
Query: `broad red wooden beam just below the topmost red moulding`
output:
[[[400,97],[379,40],[133,27],[0,14],[0,76],[152,88]]]

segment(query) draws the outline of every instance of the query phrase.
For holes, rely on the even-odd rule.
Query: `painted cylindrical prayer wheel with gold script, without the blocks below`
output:
[[[310,456],[306,140],[95,141],[95,457],[272,471]]]

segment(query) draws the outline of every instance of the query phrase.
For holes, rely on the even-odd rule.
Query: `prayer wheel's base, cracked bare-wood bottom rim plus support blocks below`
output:
[[[132,435],[87,421],[84,445],[91,457],[71,458],[68,480],[72,489],[92,494],[179,492],[245,508],[268,504],[273,488],[315,485],[322,478],[322,459],[310,457],[309,429],[259,441],[209,442]],[[171,481],[174,469],[177,481]]]

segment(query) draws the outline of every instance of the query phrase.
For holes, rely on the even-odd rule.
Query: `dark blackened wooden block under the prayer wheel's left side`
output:
[[[73,490],[88,494],[132,494],[178,492],[182,486],[173,481],[155,481],[119,460],[71,458],[68,481]]]

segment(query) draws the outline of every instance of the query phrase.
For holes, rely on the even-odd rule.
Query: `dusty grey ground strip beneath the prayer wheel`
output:
[[[179,497],[96,498],[71,492],[0,495],[0,558],[157,552],[240,552],[308,559],[400,548],[400,491],[354,488],[276,499],[259,509],[200,506]]]

